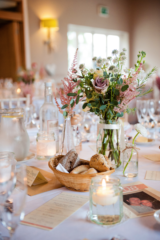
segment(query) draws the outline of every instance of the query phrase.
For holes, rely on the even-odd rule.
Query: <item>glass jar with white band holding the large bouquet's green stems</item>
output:
[[[121,165],[119,122],[108,124],[105,120],[100,120],[98,124],[97,153],[107,156],[115,168]]]

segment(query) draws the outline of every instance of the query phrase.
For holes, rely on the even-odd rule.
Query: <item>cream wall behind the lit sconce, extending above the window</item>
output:
[[[56,64],[57,80],[67,73],[67,26],[77,24],[96,28],[129,32],[128,0],[28,0],[31,61],[39,65]],[[98,4],[109,7],[109,17],[97,14]],[[43,41],[47,35],[40,29],[40,19],[58,18],[59,31],[55,34],[57,50],[48,52]]]

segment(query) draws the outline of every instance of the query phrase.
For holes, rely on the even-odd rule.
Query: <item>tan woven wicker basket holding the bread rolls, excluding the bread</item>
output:
[[[50,167],[50,169],[52,169],[60,183],[62,183],[67,188],[79,192],[89,191],[90,182],[93,177],[99,175],[111,175],[113,172],[115,172],[115,169],[93,174],[72,174],[60,172],[56,170],[54,165],[54,161],[56,160],[57,157],[59,158],[60,156],[55,156],[54,158],[50,159],[50,161],[48,162],[48,166]],[[63,155],[61,155],[61,157],[63,157]],[[83,159],[80,160],[83,161],[83,164],[88,163],[87,160]]]

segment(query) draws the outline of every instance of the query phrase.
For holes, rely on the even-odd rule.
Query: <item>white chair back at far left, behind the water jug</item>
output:
[[[13,108],[13,103],[16,104],[16,107],[21,107],[21,103],[25,102],[26,106],[30,106],[30,94],[27,94],[27,97],[25,98],[8,98],[8,99],[0,99],[0,108],[5,108],[5,103],[7,104],[7,107]]]

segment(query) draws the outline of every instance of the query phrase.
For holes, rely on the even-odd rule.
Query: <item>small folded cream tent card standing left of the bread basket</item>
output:
[[[34,186],[48,182],[48,180],[42,175],[42,173],[35,168],[26,166],[26,172],[27,172],[27,185],[30,187],[32,185]]]

